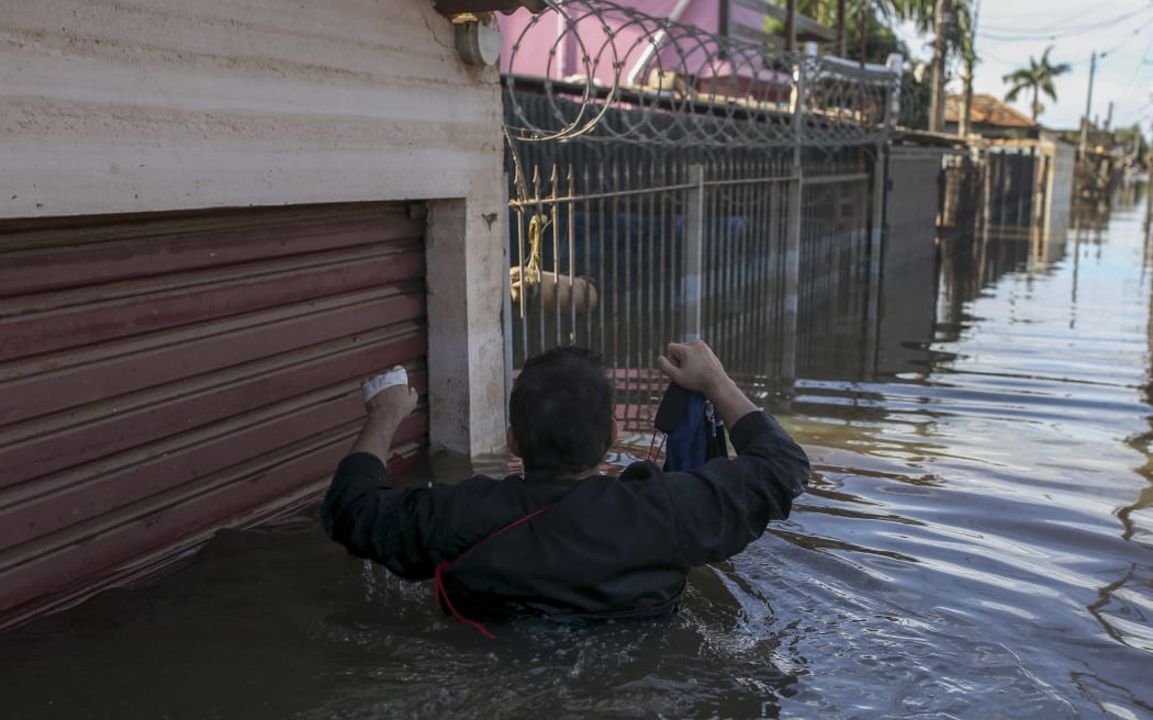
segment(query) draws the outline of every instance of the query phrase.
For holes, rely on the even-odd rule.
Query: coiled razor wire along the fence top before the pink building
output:
[[[899,65],[861,67],[567,0],[532,16],[503,62],[505,129],[523,142],[875,144],[896,122]]]

